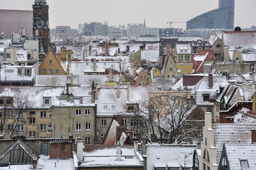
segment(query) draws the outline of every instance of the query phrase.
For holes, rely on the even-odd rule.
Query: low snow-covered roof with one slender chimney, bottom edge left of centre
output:
[[[117,149],[98,149],[93,152],[84,152],[84,162],[79,167],[126,167],[143,166],[136,157],[134,149],[121,148],[121,161],[116,160]]]

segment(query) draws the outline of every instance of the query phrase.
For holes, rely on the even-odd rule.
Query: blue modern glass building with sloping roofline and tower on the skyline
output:
[[[234,28],[235,0],[218,0],[218,8],[187,21],[187,30]]]

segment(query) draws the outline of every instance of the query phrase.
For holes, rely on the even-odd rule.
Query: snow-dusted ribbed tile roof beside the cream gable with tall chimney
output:
[[[214,145],[217,149],[217,164],[221,158],[223,144],[251,144],[252,129],[256,124],[218,123],[212,125],[214,130]]]

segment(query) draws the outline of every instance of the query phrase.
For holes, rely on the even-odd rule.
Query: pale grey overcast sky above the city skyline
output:
[[[1,0],[1,9],[32,10],[34,0]],[[50,28],[78,23],[108,21],[108,26],[143,23],[147,27],[169,28],[167,22],[186,22],[218,8],[218,0],[48,0]],[[256,0],[235,0],[235,26],[256,26]],[[185,28],[186,23],[173,23]]]

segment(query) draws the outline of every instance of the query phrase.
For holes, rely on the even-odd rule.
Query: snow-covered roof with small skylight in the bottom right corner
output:
[[[250,169],[256,169],[256,145],[225,145],[229,168],[242,169],[240,159],[247,159]]]

